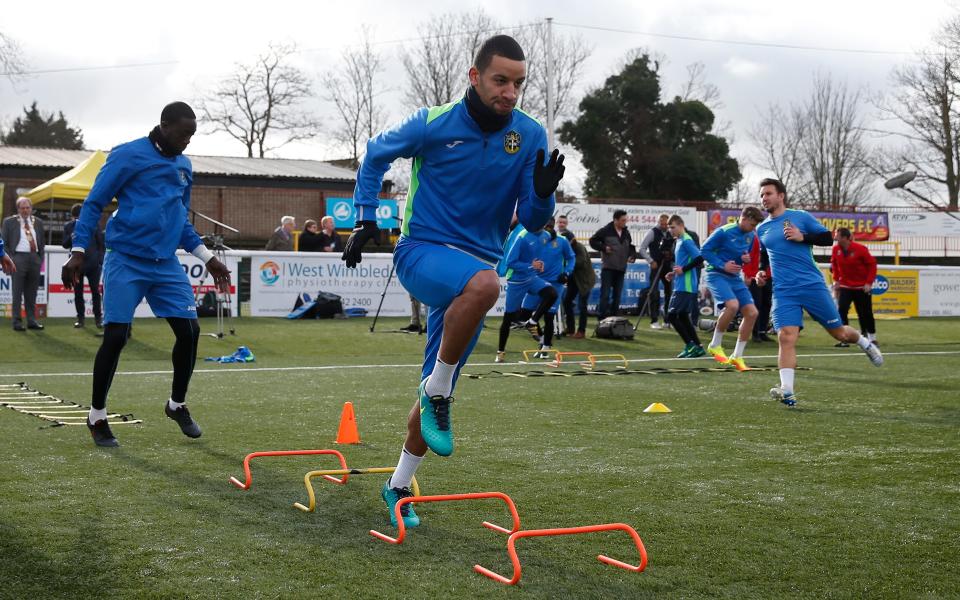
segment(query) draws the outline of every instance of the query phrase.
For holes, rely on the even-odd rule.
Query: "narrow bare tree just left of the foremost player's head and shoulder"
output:
[[[327,99],[333,102],[339,116],[334,137],[350,152],[354,167],[360,165],[366,140],[386,121],[384,109],[377,104],[381,91],[376,79],[383,71],[382,60],[373,49],[368,27],[362,29],[360,39],[359,47],[343,51],[339,71],[323,78]]]

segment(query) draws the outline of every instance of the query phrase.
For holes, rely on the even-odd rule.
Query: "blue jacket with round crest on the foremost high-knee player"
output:
[[[404,237],[495,264],[514,210],[528,231],[553,214],[553,195],[539,198],[533,191],[537,150],[546,153],[546,146],[543,126],[517,109],[506,127],[484,133],[465,98],[421,108],[367,142],[353,195],[357,220],[376,220],[384,174],[394,160],[412,158]]]

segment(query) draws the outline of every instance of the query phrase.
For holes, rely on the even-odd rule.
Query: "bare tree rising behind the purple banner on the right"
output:
[[[818,75],[805,102],[786,109],[771,104],[753,123],[753,162],[787,186],[792,205],[837,210],[867,199],[875,174],[869,166],[863,94]]]

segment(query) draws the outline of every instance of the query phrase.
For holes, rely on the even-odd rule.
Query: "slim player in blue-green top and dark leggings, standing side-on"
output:
[[[667,273],[667,279],[673,282],[673,295],[667,307],[667,323],[683,339],[684,347],[677,358],[699,358],[707,353],[700,344],[697,328],[690,318],[699,305],[699,282],[697,268],[703,264],[703,256],[693,237],[687,233],[683,218],[673,215],[667,221],[667,229],[676,240],[673,249],[673,271]]]

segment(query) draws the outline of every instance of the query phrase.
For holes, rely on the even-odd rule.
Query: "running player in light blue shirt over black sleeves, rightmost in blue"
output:
[[[757,277],[766,278],[762,269],[769,263],[773,278],[773,327],[780,342],[780,386],[771,389],[770,395],[794,406],[797,336],[803,326],[804,310],[834,339],[857,344],[875,366],[883,365],[883,355],[865,336],[841,322],[827,282],[813,259],[812,246],[832,246],[833,234],[810,213],[787,208],[787,188],[777,179],[760,182],[760,200],[769,216],[757,228],[761,248],[761,271]]]

